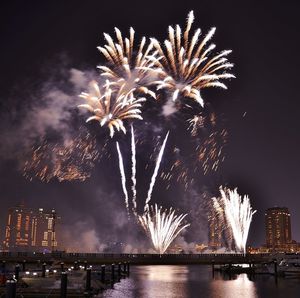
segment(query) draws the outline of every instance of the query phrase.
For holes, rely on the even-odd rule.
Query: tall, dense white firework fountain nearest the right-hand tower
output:
[[[252,211],[250,200],[247,195],[240,196],[237,188],[230,190],[220,187],[221,198],[219,202],[214,198],[216,211],[221,214],[229,226],[235,242],[236,249],[246,253],[246,244],[252,216],[256,210]]]

